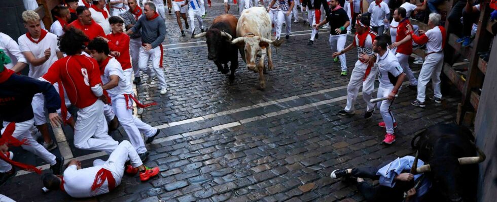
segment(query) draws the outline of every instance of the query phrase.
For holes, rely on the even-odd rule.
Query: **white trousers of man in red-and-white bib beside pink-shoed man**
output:
[[[374,79],[376,77],[377,67],[374,65],[371,68],[368,77],[366,77],[366,80],[363,81],[367,68],[367,64],[364,64],[361,61],[356,62],[356,67],[352,70],[350,81],[347,85],[347,106],[345,107],[345,112],[356,111],[354,105],[356,104],[356,98],[361,84],[363,86],[363,99],[368,105],[366,111],[371,112],[374,110],[374,103],[370,103],[369,100],[373,98]]]

